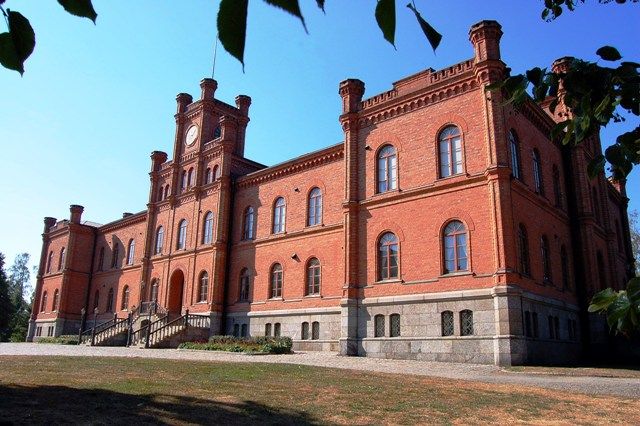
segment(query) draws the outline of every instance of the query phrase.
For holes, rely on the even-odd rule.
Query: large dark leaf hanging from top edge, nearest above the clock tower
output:
[[[221,0],[218,10],[218,38],[224,49],[242,64],[247,36],[249,0]]]

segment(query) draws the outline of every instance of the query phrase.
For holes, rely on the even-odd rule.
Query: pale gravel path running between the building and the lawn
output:
[[[527,374],[503,371],[493,365],[457,364],[410,360],[342,357],[335,352],[299,352],[293,355],[251,356],[227,352],[122,347],[64,346],[37,343],[0,343],[0,356],[61,355],[185,359],[214,362],[285,363],[343,368],[380,373],[412,374],[483,383],[513,384],[579,392],[640,398],[640,379]]]

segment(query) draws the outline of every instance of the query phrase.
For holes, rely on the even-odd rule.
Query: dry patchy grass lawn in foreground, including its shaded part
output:
[[[640,423],[640,400],[285,364],[0,357],[0,424]]]

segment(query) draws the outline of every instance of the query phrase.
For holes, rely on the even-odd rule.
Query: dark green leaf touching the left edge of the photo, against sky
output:
[[[24,61],[36,45],[36,35],[29,20],[18,12],[7,9],[9,32],[0,34],[0,64],[3,67],[24,73]]]

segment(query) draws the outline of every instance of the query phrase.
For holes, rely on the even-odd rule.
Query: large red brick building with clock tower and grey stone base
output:
[[[147,210],[98,225],[74,205],[69,220],[45,219],[29,339],[188,310],[210,334],[291,336],[306,350],[575,358],[605,335],[588,297],[631,273],[628,200],[587,177],[598,135],[549,139],[566,108],[485,90],[505,73],[501,36],[480,22],[471,59],[368,99],[363,82],[341,82],[344,141],[272,167],[244,157],[249,97],[224,103],[212,79],[199,100],[179,94],[173,159],[151,154]]]

